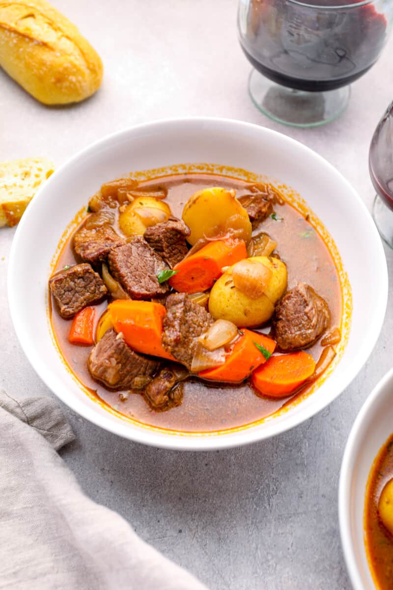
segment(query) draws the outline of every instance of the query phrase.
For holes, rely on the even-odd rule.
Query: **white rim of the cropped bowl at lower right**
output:
[[[389,369],[382,379],[372,389],[371,394],[368,395],[361,409],[356,415],[354,424],[349,432],[345,444],[344,455],[342,457],[339,486],[338,486],[338,516],[339,528],[341,536],[342,552],[346,563],[346,569],[349,573],[352,586],[354,590],[365,590],[365,585],[362,582],[359,569],[357,567],[357,560],[354,549],[354,542],[351,535],[351,487],[354,477],[355,460],[358,456],[356,453],[356,446],[358,445],[359,437],[366,426],[366,421],[371,415],[371,408],[380,395],[385,394],[385,388],[388,384],[393,382],[393,368]],[[369,466],[371,471],[372,464]],[[364,490],[365,496],[366,490]]]

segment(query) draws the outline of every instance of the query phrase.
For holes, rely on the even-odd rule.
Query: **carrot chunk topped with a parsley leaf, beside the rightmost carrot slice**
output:
[[[274,340],[258,332],[242,329],[242,336],[235,342],[232,350],[226,356],[225,363],[214,369],[207,369],[199,373],[203,379],[214,379],[228,383],[244,381],[251,373],[266,362],[275,348]],[[261,349],[265,349],[265,354]]]

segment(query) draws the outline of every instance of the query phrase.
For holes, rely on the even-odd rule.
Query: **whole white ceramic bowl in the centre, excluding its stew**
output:
[[[341,253],[353,294],[349,340],[335,371],[304,401],[262,424],[226,433],[169,434],[131,424],[89,398],[52,343],[45,307],[51,260],[65,228],[104,181],[131,170],[184,162],[243,168],[290,186],[322,220]],[[368,278],[372,277],[372,280]],[[378,289],[375,289],[378,284]],[[61,166],[29,205],[9,260],[8,296],[16,334],[38,375],[78,414],[126,438],[181,449],[232,447],[269,438],[303,422],[351,383],[372,352],[387,305],[387,266],[364,203],[326,160],[285,135],[225,119],[147,123],[105,137]],[[369,306],[369,301],[373,305]]]

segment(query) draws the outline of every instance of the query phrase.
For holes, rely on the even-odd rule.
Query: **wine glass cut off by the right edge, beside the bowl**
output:
[[[372,136],[368,162],[377,191],[372,211],[374,221],[379,234],[393,248],[393,101]]]

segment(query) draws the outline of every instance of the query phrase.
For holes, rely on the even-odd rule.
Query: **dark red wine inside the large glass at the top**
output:
[[[346,86],[375,63],[387,21],[374,4],[241,0],[240,43],[248,60],[282,86],[306,91]]]

